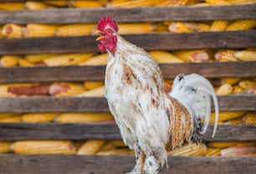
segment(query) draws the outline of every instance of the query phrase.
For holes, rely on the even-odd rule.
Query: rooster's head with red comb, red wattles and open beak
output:
[[[96,33],[100,35],[97,37],[98,47],[100,52],[109,51],[115,55],[115,47],[117,42],[116,32],[118,32],[117,23],[110,16],[102,17],[98,22]]]

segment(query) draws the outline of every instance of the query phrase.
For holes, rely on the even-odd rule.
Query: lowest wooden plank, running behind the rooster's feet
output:
[[[131,172],[133,156],[0,155],[2,174],[120,174]],[[256,157],[168,157],[161,174],[254,173]]]

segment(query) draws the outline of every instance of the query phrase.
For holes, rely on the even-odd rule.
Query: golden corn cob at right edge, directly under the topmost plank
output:
[[[256,20],[238,20],[232,22],[226,28],[227,31],[233,30],[248,30],[256,27]]]

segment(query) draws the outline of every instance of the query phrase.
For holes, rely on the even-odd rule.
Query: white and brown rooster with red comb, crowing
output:
[[[214,136],[218,124],[218,100],[206,78],[197,74],[175,77],[172,92],[164,91],[161,70],[142,48],[118,33],[117,22],[102,17],[96,33],[100,52],[108,52],[105,97],[120,128],[125,145],[136,153],[134,174],[157,174],[167,166],[167,150],[184,141],[202,141],[215,105]]]

